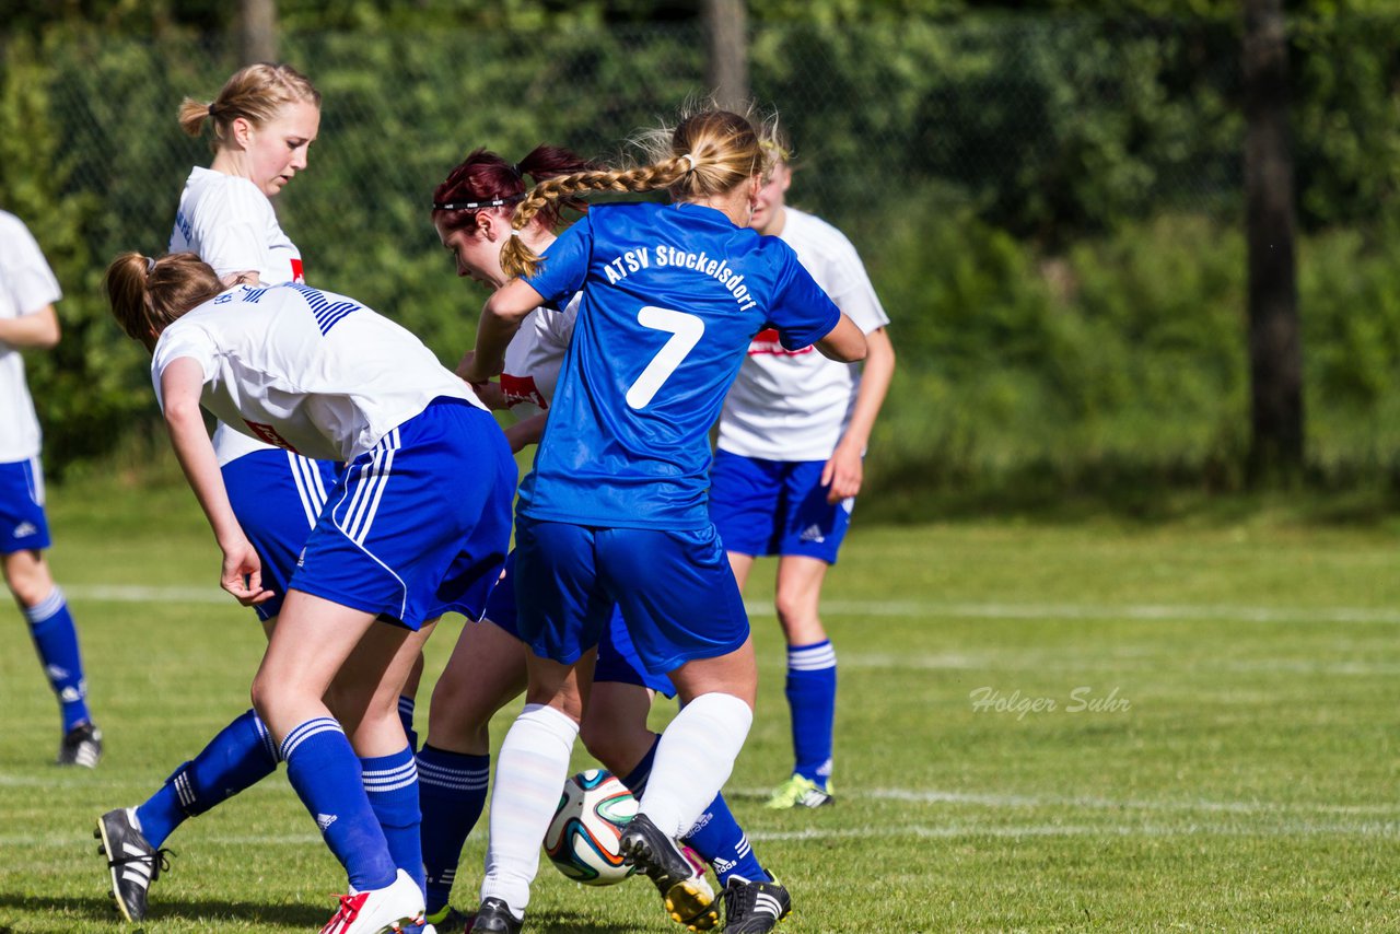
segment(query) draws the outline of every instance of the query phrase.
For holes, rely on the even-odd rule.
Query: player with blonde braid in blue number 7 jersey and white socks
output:
[[[644,668],[666,672],[685,704],[661,737],[622,849],[652,879],[679,879],[673,902],[692,898],[678,837],[728,779],[756,690],[748,618],[706,513],[708,428],[764,326],[785,346],[818,343],[846,360],[865,351],[791,248],[748,230],[766,171],[749,120],[696,113],[659,148],[650,165],[556,178],[519,203],[517,232],[546,204],[585,190],[666,188],[673,197],[591,209],[542,267],[522,237],[505,238],[503,267],[525,277],[486,301],[463,371],[472,381],[500,372],[532,309],[582,291],[535,471],[521,487],[515,598],[529,686],[497,763],[475,931],[522,924],[578,734],[568,707],[575,667],[615,604]],[[741,896],[762,917],[735,905]],[[769,930],[788,907],[785,892],[756,886],[731,885],[725,902],[731,919],[745,919],[731,931]]]

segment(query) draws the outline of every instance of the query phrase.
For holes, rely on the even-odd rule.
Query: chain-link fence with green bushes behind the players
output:
[[[1392,106],[1386,92],[1362,101],[1352,71],[1387,87],[1400,21],[1299,35],[1305,230],[1309,217],[1369,223],[1400,169],[1351,158],[1394,144],[1371,119]],[[1247,442],[1239,42],[1235,22],[1098,17],[752,31],[753,97],[795,146],[790,200],[851,237],[895,321],[900,370],[876,472],[956,486],[1018,472],[1095,482],[1147,465],[1233,482]],[[708,91],[700,27],[284,34],[280,45],[323,94],[309,169],[277,206],[308,280],[395,316],[444,361],[470,346],[482,300],[452,277],[430,224],[448,169],[477,146],[519,158],[545,141],[617,160],[631,133]],[[70,290],[80,314],[105,315],[95,281],[113,253],[164,249],[189,168],[210,160],[176,108],[211,98],[235,56],[231,41],[188,38],[43,49],[55,183],[83,211],[88,245],[87,290]],[[1305,336],[1310,412],[1344,409],[1316,435],[1320,456],[1383,466],[1400,442],[1400,405],[1387,402],[1400,374],[1372,353],[1357,378],[1347,342],[1376,332],[1354,308],[1396,307],[1382,295],[1389,266],[1364,244],[1324,248],[1350,276],[1302,279],[1317,332]],[[1385,347],[1400,344],[1400,308],[1385,315]],[[88,365],[108,354],[129,389],[112,410],[148,417],[144,363],[106,349],[105,323],[87,337]],[[67,414],[49,419],[62,447]],[[74,456],[109,447],[91,437],[97,421],[73,434]]]

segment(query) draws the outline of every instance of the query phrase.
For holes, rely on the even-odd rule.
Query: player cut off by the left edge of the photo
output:
[[[92,769],[102,758],[102,732],[88,713],[73,615],[43,559],[50,541],[43,514],[39,421],[20,356],[25,347],[48,349],[59,342],[53,302],[62,297],[59,280],[29,228],[14,214],[0,211],[0,569],[59,699],[63,738],[57,762]]]

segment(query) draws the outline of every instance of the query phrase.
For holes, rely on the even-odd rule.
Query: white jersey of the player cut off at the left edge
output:
[[[21,318],[63,297],[29,228],[0,211],[0,318]],[[24,357],[0,340],[0,463],[39,455],[39,420],[24,375]]]

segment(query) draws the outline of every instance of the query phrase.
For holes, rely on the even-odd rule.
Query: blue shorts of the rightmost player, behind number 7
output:
[[[763,461],[715,451],[710,521],[739,555],[798,555],[836,563],[854,499],[826,501],[826,461]]]

